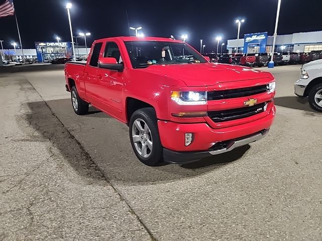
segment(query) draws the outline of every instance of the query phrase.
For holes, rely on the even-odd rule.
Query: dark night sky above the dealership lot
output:
[[[206,52],[214,49],[218,35],[224,41],[236,38],[237,18],[246,20],[241,25],[240,38],[246,33],[266,31],[273,35],[278,0],[70,2],[74,36],[79,31],[91,32],[88,45],[95,39],[128,36],[127,10],[129,25],[142,26],[145,36],[180,38],[187,34],[187,42],[197,50],[199,39],[203,39]],[[56,35],[62,41],[70,41],[66,3],[67,0],[14,0],[24,48],[34,48],[36,41],[54,42]],[[322,30],[321,8],[321,0],[282,0],[278,34]],[[13,16],[0,18],[0,39],[5,41],[5,48],[12,47],[13,41],[19,42]]]

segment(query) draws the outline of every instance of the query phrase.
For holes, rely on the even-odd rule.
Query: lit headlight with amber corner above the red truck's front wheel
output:
[[[172,91],[171,99],[180,105],[198,105],[207,103],[206,91]]]

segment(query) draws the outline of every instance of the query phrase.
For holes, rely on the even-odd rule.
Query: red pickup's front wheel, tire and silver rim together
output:
[[[157,120],[153,108],[136,110],[130,119],[129,134],[136,157],[147,166],[157,166],[163,160]]]

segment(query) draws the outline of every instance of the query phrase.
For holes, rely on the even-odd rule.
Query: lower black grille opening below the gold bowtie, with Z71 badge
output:
[[[234,119],[246,118],[265,111],[267,103],[235,109],[208,111],[208,116],[215,123],[233,121]]]

